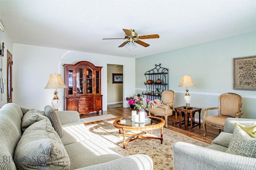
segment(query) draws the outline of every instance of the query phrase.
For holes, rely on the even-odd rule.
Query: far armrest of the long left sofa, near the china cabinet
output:
[[[56,113],[62,125],[80,121],[80,116],[77,111],[56,111]]]

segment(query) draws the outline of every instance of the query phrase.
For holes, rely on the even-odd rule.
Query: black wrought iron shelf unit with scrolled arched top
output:
[[[168,68],[161,67],[161,64],[155,64],[155,68],[145,72],[144,75],[146,77],[146,82],[144,82],[146,92],[142,92],[142,94],[150,100],[160,99],[162,92],[168,90]],[[148,83],[148,80],[152,80],[152,83]],[[156,82],[157,80],[158,82]]]

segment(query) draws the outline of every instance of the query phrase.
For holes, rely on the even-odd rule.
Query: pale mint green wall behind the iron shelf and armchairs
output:
[[[156,41],[161,42],[161,35]],[[206,107],[218,107],[220,94],[233,92],[243,98],[242,117],[256,119],[256,90],[233,90],[233,58],[252,55],[256,55],[256,31],[141,57],[136,59],[136,92],[146,91],[144,73],[161,63],[169,68],[168,89],[176,92],[174,107],[185,104],[186,88],[178,85],[182,75],[188,74],[196,85],[188,87],[190,106],[202,108],[204,113]]]

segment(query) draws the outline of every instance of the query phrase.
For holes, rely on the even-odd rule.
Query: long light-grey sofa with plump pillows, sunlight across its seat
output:
[[[56,113],[61,133],[44,111],[4,105],[0,109],[0,169],[153,169],[149,156],[122,157],[95,140],[77,111]]]

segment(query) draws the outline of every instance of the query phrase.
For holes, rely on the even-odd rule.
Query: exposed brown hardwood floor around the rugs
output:
[[[115,115],[117,118],[124,118],[124,117],[130,117],[131,116],[131,112],[132,109],[130,107],[127,108],[120,108],[120,109],[113,109],[113,110],[107,110],[107,111],[103,111],[103,113],[88,113],[86,115],[82,115],[80,114],[80,118],[86,118],[86,117],[93,117],[93,116],[98,116],[98,115],[106,115],[106,114],[112,114]],[[100,123],[100,122],[105,122],[105,121],[110,121],[110,120],[115,120],[117,118],[113,118],[113,119],[105,119],[102,121],[94,121],[94,122],[90,122],[90,123],[85,123],[85,125],[90,125],[90,124],[94,124],[94,123]],[[178,126],[175,127],[174,124],[172,124],[172,117],[169,116],[168,117],[168,129],[175,131],[177,133],[180,133],[182,135],[186,135],[188,137],[197,139],[199,141],[211,144],[212,140],[214,138],[216,138],[218,136],[218,129],[215,129],[213,127],[207,126],[207,134],[206,137],[203,137],[204,134],[204,129],[203,126],[201,125],[201,129],[199,129],[199,126],[194,127],[192,129],[192,132],[190,132],[190,127],[188,127],[188,129],[185,130],[184,125],[182,125],[182,128],[179,128]]]

